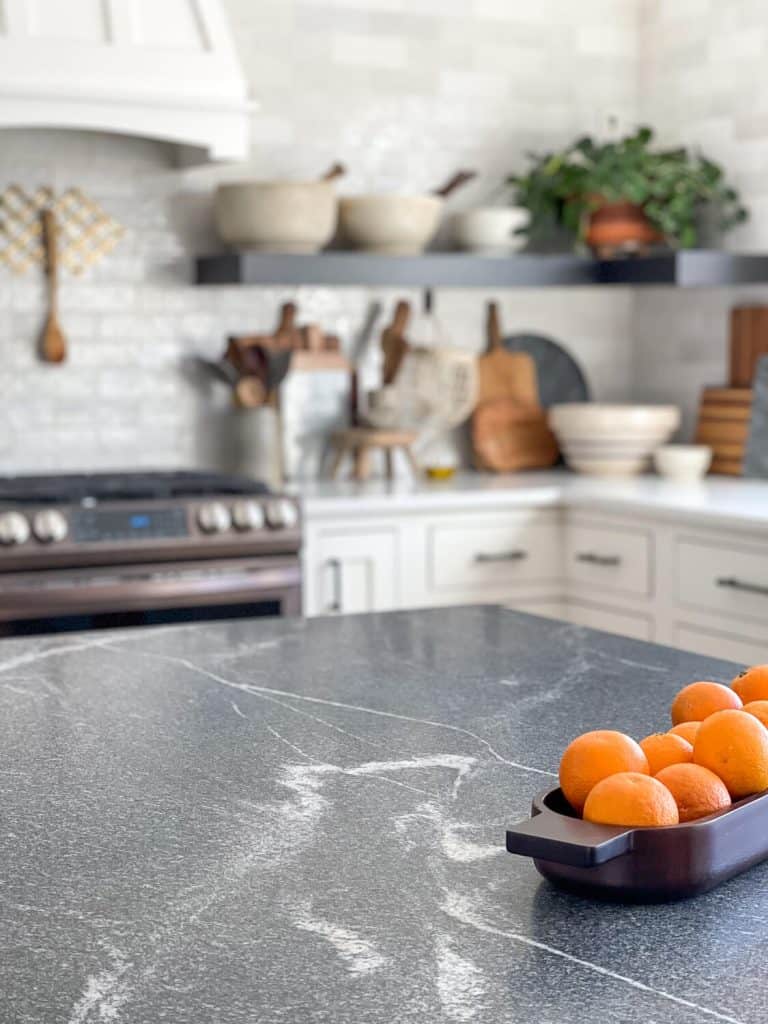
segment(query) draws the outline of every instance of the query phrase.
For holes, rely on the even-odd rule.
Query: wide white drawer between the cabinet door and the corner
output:
[[[428,586],[433,590],[503,590],[560,574],[557,524],[512,517],[440,523],[428,532]]]

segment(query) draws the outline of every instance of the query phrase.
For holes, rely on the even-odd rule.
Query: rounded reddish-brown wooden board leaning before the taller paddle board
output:
[[[472,417],[472,446],[478,469],[511,473],[553,466],[557,441],[545,413],[514,398],[483,402]]]

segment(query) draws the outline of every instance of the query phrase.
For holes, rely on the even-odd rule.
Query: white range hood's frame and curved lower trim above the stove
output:
[[[5,34],[0,31],[0,128],[72,129],[165,141],[178,146],[187,164],[247,159],[250,119],[258,106],[247,98],[218,0],[188,0],[207,43],[199,53],[126,47],[105,39],[97,46],[74,43],[56,65],[50,39],[12,32],[28,0],[14,2],[16,16],[6,23]],[[131,0],[122,0],[126,2]],[[117,59],[110,61],[113,54]],[[135,75],[129,76],[126,65],[131,63]],[[117,69],[114,74],[104,71],[111,65]],[[34,82],[31,67],[45,69]]]

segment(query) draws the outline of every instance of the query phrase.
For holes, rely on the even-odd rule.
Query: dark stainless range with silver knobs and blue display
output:
[[[298,614],[296,500],[218,473],[0,477],[0,635]]]

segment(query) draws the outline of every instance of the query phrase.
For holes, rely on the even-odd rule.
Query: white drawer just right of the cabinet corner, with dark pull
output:
[[[651,592],[651,539],[644,530],[570,522],[565,564],[573,584],[639,597]]]

